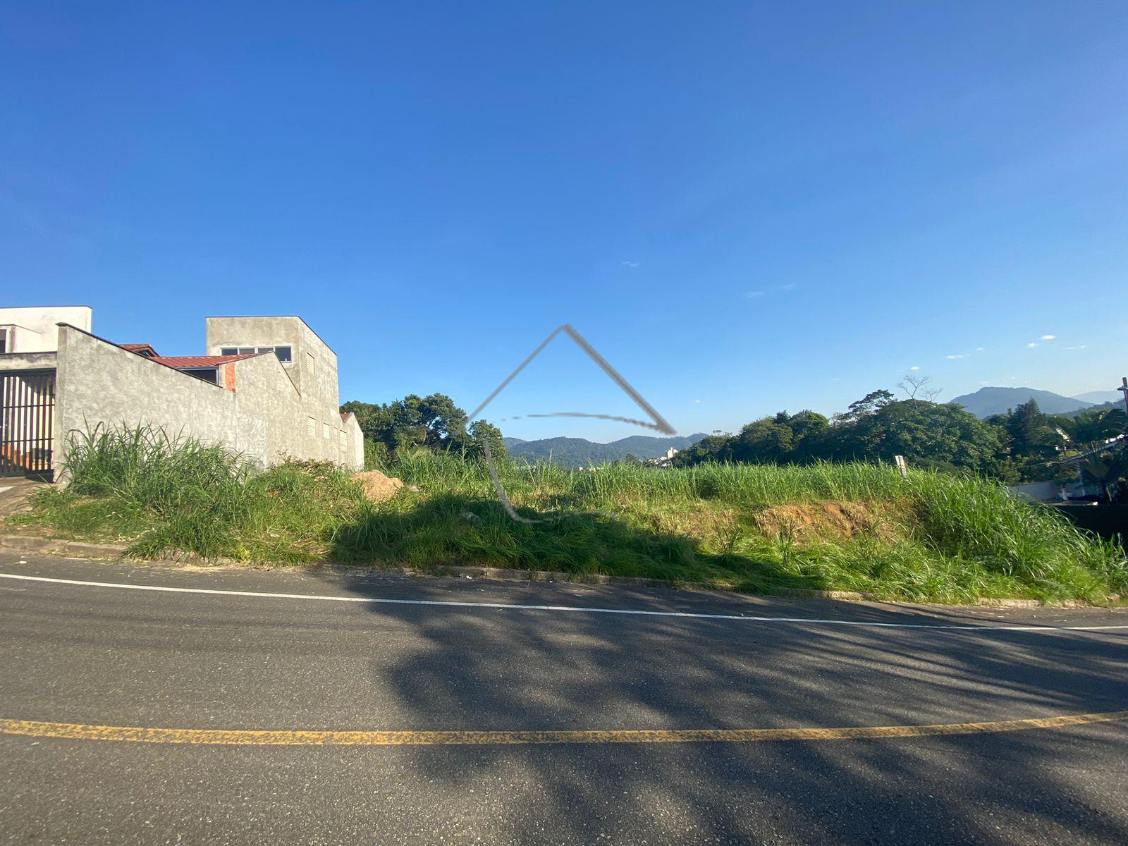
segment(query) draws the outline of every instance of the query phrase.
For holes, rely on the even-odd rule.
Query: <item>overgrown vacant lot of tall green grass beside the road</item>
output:
[[[484,464],[420,452],[382,468],[381,504],[328,465],[253,473],[218,448],[98,432],[71,452],[71,485],[21,518],[50,534],[126,539],[241,561],[431,569],[527,567],[714,582],[743,591],[841,589],[885,598],[1109,601],[1123,550],[1051,509],[976,478],[866,464],[573,472],[505,464],[512,520]]]

